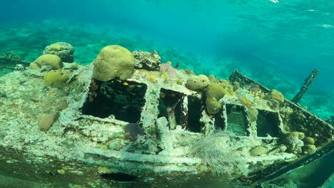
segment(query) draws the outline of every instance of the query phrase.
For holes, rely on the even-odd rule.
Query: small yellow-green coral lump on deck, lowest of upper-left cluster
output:
[[[65,85],[67,80],[69,80],[69,76],[61,70],[49,71],[44,75],[44,85],[46,86]]]

